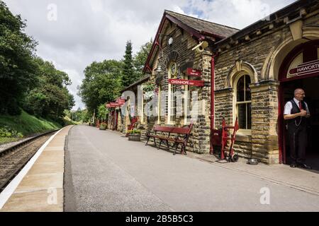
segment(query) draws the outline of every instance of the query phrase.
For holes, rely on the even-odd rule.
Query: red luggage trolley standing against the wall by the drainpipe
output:
[[[238,119],[235,121],[235,126],[226,126],[225,119],[223,119],[222,129],[213,129],[211,134],[211,142],[213,142],[212,146],[221,146],[221,160],[225,160],[225,158],[228,157],[229,162],[238,161],[238,155],[234,152],[234,143],[236,141],[236,133],[238,129]],[[233,130],[233,134],[230,133],[230,130]],[[228,147],[228,141],[230,141],[230,148],[227,151],[226,148]],[[211,155],[213,155],[213,151],[211,152]]]

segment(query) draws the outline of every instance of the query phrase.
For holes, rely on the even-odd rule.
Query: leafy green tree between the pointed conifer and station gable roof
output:
[[[133,65],[135,69],[135,81],[138,81],[143,76],[143,69],[145,66],[145,62],[147,61],[147,57],[150,54],[150,49],[152,48],[152,39],[150,42],[146,42],[140,47],[140,51],[135,54],[133,59]]]

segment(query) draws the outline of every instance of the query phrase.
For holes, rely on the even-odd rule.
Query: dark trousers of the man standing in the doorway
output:
[[[290,157],[293,163],[305,163],[307,146],[307,126],[289,129]]]

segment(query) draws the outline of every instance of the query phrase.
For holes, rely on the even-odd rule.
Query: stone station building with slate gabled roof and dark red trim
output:
[[[143,93],[143,84],[155,85],[157,116],[147,116],[142,100],[134,110],[145,136],[154,125],[194,123],[189,151],[209,153],[212,129],[235,124],[235,151],[267,164],[289,161],[283,120],[284,105],[293,90],[303,88],[310,117],[308,157],[319,158],[319,5],[296,1],[264,20],[237,30],[225,25],[164,11],[145,78],[126,90]],[[235,19],[235,18],[234,18]],[[172,95],[180,91],[182,101]],[[167,93],[163,99],[161,93]],[[196,93],[197,116],[192,119]],[[142,95],[145,97],[145,95]],[[161,104],[162,103],[162,104]],[[163,104],[164,103],[164,104]],[[130,107],[128,107],[130,108]],[[163,109],[164,108],[164,109]],[[160,114],[160,112],[164,114]],[[130,117],[121,115],[118,130],[126,132]]]

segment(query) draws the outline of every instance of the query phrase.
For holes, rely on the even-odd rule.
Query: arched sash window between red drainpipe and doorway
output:
[[[236,116],[240,129],[252,129],[252,95],[250,92],[250,76],[241,76],[236,85]]]

